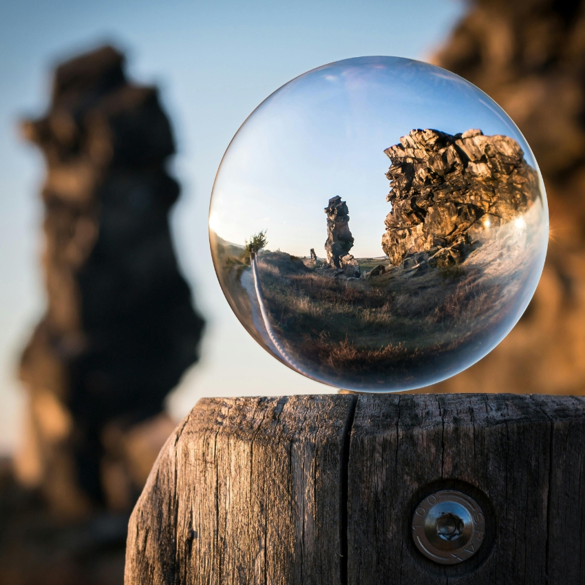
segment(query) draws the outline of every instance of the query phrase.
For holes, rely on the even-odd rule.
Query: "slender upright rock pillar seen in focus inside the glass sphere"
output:
[[[359,278],[360,269],[356,259],[350,254],[354,238],[350,231],[348,205],[337,195],[329,200],[325,208],[327,214],[327,240],[325,251],[327,263],[331,268],[343,270],[346,276]]]

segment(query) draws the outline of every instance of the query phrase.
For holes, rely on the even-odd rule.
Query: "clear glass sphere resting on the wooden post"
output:
[[[266,98],[217,171],[217,277],[242,325],[317,381],[392,392],[485,356],[529,304],[549,235],[529,145],[434,65],[338,61]]]

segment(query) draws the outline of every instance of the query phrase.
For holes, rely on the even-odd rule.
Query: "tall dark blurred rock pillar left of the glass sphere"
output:
[[[67,562],[47,572],[57,561],[31,542],[38,531],[3,516],[0,582],[16,555],[39,571],[10,582],[93,583],[67,554],[89,558],[92,546],[116,538],[123,551],[126,514],[174,427],[164,398],[197,361],[204,323],[171,242],[168,215],[180,189],[165,167],[175,147],[156,88],[128,81],[123,55],[102,47],[56,68],[47,114],[23,131],[47,167],[47,310],[21,361],[28,428],[16,476],[38,494],[39,509],[75,528],[55,533],[72,546],[58,549]],[[35,518],[38,528],[42,514]],[[58,581],[46,580],[51,573]]]

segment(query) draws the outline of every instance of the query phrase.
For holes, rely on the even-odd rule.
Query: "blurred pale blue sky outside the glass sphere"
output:
[[[171,412],[183,416],[201,396],[330,391],[259,348],[215,279],[207,210],[215,172],[238,127],[275,89],[319,65],[364,55],[424,59],[463,10],[456,0],[3,0],[0,451],[17,443],[24,401],[14,370],[44,302],[38,196],[43,165],[39,153],[19,139],[17,121],[43,111],[54,63],[115,43],[127,52],[132,78],[159,85],[171,116],[179,150],[171,169],[182,184],[172,216],[175,246],[209,321],[200,365],[169,399]]]

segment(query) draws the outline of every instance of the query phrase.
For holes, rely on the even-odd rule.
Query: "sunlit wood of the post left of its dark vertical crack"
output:
[[[349,395],[200,401],[132,515],[126,584],[339,582],[345,436],[355,402]]]

